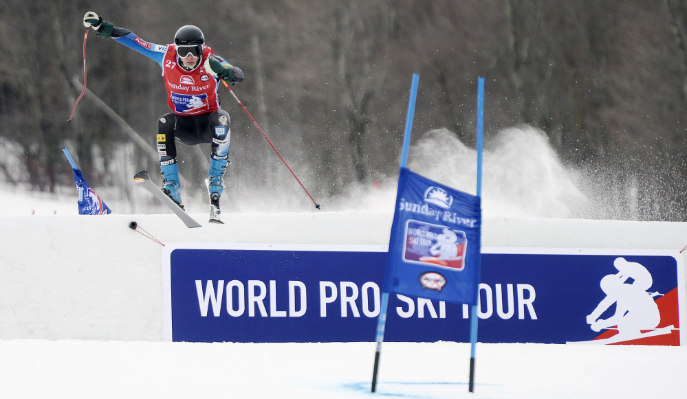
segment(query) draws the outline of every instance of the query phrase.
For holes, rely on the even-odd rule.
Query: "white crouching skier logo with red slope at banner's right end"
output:
[[[673,334],[679,330],[674,324],[678,319],[677,304],[672,303],[677,298],[649,292],[653,277],[642,264],[619,257],[615,258],[613,266],[618,273],[601,279],[601,290],[606,296],[586,320],[591,330],[603,331],[602,334],[591,341],[568,343],[679,345],[679,335]],[[670,294],[673,293],[675,290]]]

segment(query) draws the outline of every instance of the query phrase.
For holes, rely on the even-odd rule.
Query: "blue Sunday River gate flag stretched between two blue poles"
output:
[[[384,291],[475,305],[480,257],[479,196],[401,168]]]

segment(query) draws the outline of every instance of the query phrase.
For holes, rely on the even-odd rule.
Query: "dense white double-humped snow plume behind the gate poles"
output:
[[[547,138],[534,128],[509,128],[485,150],[485,216],[571,218],[587,198],[563,168]],[[411,148],[411,170],[474,194],[477,153],[447,129],[430,130]]]

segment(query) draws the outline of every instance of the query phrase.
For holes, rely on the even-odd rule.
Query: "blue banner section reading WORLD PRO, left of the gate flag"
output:
[[[386,252],[176,249],[173,341],[367,341]],[[306,266],[307,265],[307,266]]]

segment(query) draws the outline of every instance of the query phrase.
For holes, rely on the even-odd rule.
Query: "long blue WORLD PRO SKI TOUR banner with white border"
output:
[[[480,342],[685,342],[677,251],[482,252]],[[386,256],[382,246],[166,243],[165,339],[373,342]],[[468,342],[471,308],[391,294],[384,341]]]

